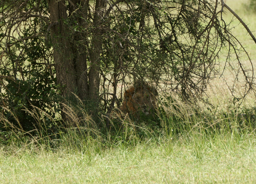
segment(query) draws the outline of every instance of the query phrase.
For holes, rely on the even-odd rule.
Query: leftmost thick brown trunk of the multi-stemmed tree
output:
[[[64,24],[67,13],[64,0],[48,0],[51,14],[50,33],[53,43],[53,56],[56,69],[57,83],[61,86],[63,97],[70,96],[77,87],[74,54],[71,48],[69,35]]]

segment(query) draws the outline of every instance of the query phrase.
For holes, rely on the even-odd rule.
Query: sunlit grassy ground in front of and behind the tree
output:
[[[248,13],[246,6],[241,6],[248,0],[225,2],[250,23],[251,30],[256,30],[256,14]],[[229,13],[226,16],[232,17]],[[233,24],[238,25],[238,21]],[[234,34],[243,40],[255,61],[255,43],[242,25],[234,29]],[[232,78],[229,71],[225,75]],[[157,134],[152,131],[153,135],[143,140],[128,125],[124,129],[127,132],[115,138],[63,137],[67,141],[56,149],[31,140],[18,146],[15,141],[2,146],[0,183],[255,183],[255,129],[246,127],[255,125],[255,114],[243,119],[246,113],[231,109],[235,115],[228,116],[230,107],[220,99],[228,99],[230,94],[220,81],[212,84],[215,87],[209,93],[215,96],[213,100],[219,100],[217,103],[223,106],[224,113],[212,112],[213,117],[209,118],[185,109],[185,118],[181,119],[184,126],[192,124],[189,128],[177,127],[175,121],[166,119],[162,120],[167,124],[166,130],[158,129]],[[255,98],[251,96],[245,103],[254,106]],[[206,119],[210,119],[210,124],[203,128]],[[209,125],[219,125],[219,128]]]

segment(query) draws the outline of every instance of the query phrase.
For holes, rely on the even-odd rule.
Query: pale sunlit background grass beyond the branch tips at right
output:
[[[248,25],[249,29],[253,32],[255,35],[256,30],[256,22],[254,21],[256,18],[255,9],[250,7],[250,0],[224,0],[225,3],[232,8],[232,10],[235,11],[236,14],[242,20]],[[251,68],[253,65],[254,72],[256,71],[256,44],[252,40],[252,38],[247,33],[246,29],[242,26],[242,24],[239,22],[239,20],[234,19],[233,14],[231,14],[228,10],[225,10],[225,14],[223,14],[223,19],[226,22],[232,21],[232,24],[230,27],[235,26],[235,28],[232,29],[232,34],[236,36],[236,38],[242,43],[242,45],[246,48],[246,51],[248,52],[248,55],[252,61],[248,60],[245,53],[242,53],[240,55],[240,59],[242,60],[242,64],[244,64],[245,67]],[[225,59],[227,56],[227,52],[224,50],[223,54],[220,56],[220,70],[224,68],[225,65]],[[232,61],[234,65],[237,67],[237,61]],[[252,64],[252,65],[251,65]],[[222,71],[222,70],[221,70]],[[225,78],[226,82],[228,84],[233,84],[235,72],[230,70],[229,66],[226,66],[226,70],[223,72],[223,77]],[[228,86],[226,85],[226,82],[223,81],[223,78],[216,78],[215,80],[211,81],[211,87],[208,88],[208,95],[210,98],[210,101],[212,103],[218,103],[219,106],[224,106],[228,100],[232,99],[232,94],[230,93]],[[242,92],[241,84],[238,82],[236,83],[236,86],[238,87],[236,90],[236,94],[240,94]],[[251,93],[247,96],[247,99],[245,101],[246,106],[255,106],[255,94]]]

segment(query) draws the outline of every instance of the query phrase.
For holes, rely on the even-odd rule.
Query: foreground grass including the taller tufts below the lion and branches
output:
[[[89,117],[87,122],[49,136],[1,134],[6,139],[0,148],[0,183],[253,183],[256,179],[252,108],[195,112],[181,103],[164,104],[159,107],[158,125],[125,119],[109,132],[98,130]]]

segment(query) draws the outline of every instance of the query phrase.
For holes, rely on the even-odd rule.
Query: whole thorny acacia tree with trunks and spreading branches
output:
[[[110,113],[118,86],[138,80],[183,99],[202,98],[219,74],[223,47],[226,63],[231,53],[237,56],[245,95],[253,86],[253,69],[240,62],[245,50],[222,18],[224,7],[232,11],[223,0],[2,1],[2,98],[20,95],[28,107],[38,106],[35,94],[47,86],[47,94],[57,89],[65,98],[76,94]],[[35,78],[34,93],[20,90]]]

